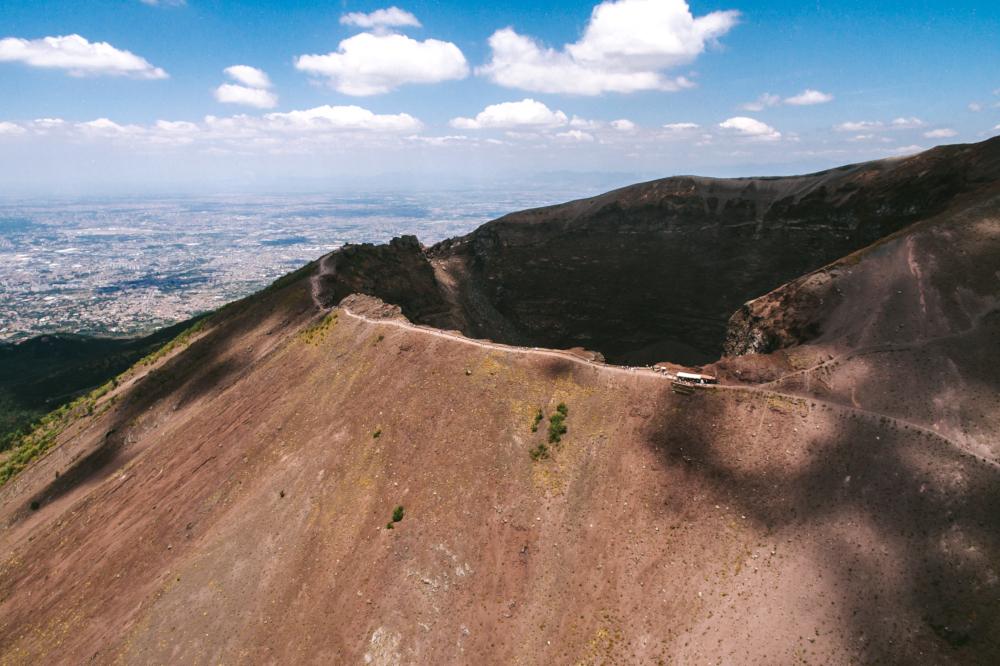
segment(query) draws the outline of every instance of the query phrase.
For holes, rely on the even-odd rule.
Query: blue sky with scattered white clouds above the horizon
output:
[[[0,0],[0,17],[0,196],[779,175],[1000,134],[995,0]]]

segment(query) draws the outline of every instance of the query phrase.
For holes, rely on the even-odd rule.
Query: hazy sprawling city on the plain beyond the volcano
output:
[[[131,336],[250,294],[346,243],[425,244],[585,191],[0,202],[0,341]]]

